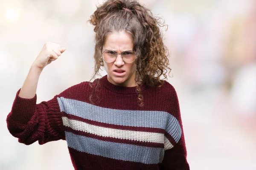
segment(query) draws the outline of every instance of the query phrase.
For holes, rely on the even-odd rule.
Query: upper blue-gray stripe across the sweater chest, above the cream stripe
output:
[[[178,120],[163,111],[130,111],[102,108],[74,99],[58,97],[60,110],[67,114],[114,125],[156,127],[165,129],[176,142],[180,140],[181,128]]]

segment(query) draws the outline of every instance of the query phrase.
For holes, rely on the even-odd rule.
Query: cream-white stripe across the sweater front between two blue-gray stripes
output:
[[[163,133],[112,129],[107,127],[90,125],[88,123],[80,122],[78,120],[68,119],[67,117],[62,117],[62,121],[64,126],[71,127],[73,130],[80,130],[83,132],[92,133],[99,136],[107,136],[118,139],[130,139],[143,142],[155,142],[162,144],[164,143]]]

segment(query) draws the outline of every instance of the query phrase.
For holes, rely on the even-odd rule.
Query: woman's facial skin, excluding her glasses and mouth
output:
[[[108,35],[103,45],[103,51],[105,49],[113,50],[117,55],[114,62],[108,63],[104,62],[104,68],[107,72],[108,81],[114,85],[134,87],[137,86],[135,81],[136,75],[136,64],[135,62],[126,63],[122,60],[120,55],[125,50],[133,50],[133,39],[130,34],[122,32],[115,32]],[[113,70],[122,69],[125,70],[125,74],[122,76],[117,76],[114,74]]]

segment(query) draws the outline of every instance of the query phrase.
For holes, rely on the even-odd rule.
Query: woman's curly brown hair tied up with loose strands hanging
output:
[[[107,0],[98,6],[88,20],[94,26],[95,52],[94,74],[99,74],[103,66],[101,58],[102,47],[109,33],[125,31],[133,38],[136,51],[137,92],[140,105],[143,106],[141,85],[161,86],[163,79],[167,79],[169,68],[169,51],[163,43],[160,27],[167,27],[160,17],[153,17],[152,12],[136,0]],[[167,30],[166,28],[166,30]],[[93,87],[99,88],[99,81]],[[90,96],[92,102],[92,95]]]

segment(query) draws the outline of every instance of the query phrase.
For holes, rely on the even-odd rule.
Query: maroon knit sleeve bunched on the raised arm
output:
[[[18,142],[29,145],[36,141],[45,144],[59,139],[65,140],[62,113],[58,105],[57,97],[49,101],[36,104],[37,95],[32,99],[25,99],[18,94],[8,114],[6,122],[12,136],[18,138]]]

